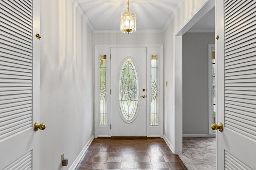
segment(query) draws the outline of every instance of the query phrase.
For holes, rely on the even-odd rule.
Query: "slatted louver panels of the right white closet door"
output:
[[[226,0],[224,22],[224,125],[256,140],[256,1]],[[247,168],[237,161],[225,152],[226,169]]]

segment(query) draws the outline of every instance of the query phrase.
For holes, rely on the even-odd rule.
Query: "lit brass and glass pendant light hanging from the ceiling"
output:
[[[120,16],[120,30],[122,33],[132,33],[133,31],[136,31],[136,14],[134,12],[129,12],[129,0],[127,5],[128,11]]]

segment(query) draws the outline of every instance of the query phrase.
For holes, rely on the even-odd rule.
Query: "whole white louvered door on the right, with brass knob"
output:
[[[218,170],[256,170],[256,0],[216,0]]]

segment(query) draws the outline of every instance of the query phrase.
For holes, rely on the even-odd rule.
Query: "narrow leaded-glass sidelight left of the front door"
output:
[[[100,55],[100,126],[107,125],[106,55]]]

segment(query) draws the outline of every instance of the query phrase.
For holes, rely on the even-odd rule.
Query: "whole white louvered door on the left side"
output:
[[[0,0],[0,170],[39,169],[39,9]]]

